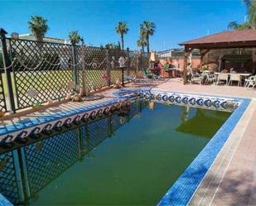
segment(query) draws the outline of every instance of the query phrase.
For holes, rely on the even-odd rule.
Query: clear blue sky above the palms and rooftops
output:
[[[157,25],[150,39],[153,50],[178,47],[177,43],[226,30],[231,21],[243,22],[246,9],[241,0],[200,1],[1,1],[0,27],[9,34],[29,33],[31,15],[46,17],[50,30],[46,36],[67,38],[79,31],[85,43],[93,46],[119,41],[114,28],[119,21],[128,23],[125,47],[138,49],[139,24]]]

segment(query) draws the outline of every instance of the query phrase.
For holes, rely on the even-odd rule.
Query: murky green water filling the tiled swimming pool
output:
[[[24,146],[26,203],[155,205],[229,115],[138,102]]]

